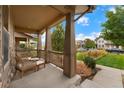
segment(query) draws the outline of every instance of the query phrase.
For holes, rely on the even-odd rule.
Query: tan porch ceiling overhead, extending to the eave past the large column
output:
[[[76,14],[86,11],[88,6],[76,6]],[[11,6],[14,25],[18,32],[34,33],[64,20],[65,15],[74,10],[74,6]]]

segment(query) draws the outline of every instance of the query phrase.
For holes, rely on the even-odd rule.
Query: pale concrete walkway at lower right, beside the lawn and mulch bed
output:
[[[97,65],[102,70],[99,71],[93,80],[86,79],[81,83],[82,88],[123,88],[123,70]]]

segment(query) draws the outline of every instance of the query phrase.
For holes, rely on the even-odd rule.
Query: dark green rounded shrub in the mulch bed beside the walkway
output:
[[[96,68],[96,62],[92,57],[85,57],[84,58],[84,63],[91,69],[95,69]]]

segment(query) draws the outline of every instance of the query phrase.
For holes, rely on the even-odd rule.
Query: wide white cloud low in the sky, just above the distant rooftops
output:
[[[100,32],[92,32],[89,35],[84,35],[82,33],[76,35],[76,40],[85,40],[86,38],[89,38],[91,40],[95,40],[96,37],[100,35]]]

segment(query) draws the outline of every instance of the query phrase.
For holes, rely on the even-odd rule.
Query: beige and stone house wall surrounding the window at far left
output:
[[[14,26],[12,22],[11,7],[8,7],[8,32],[9,32],[9,61],[2,65],[2,6],[0,6],[0,87],[9,87],[15,73]]]

